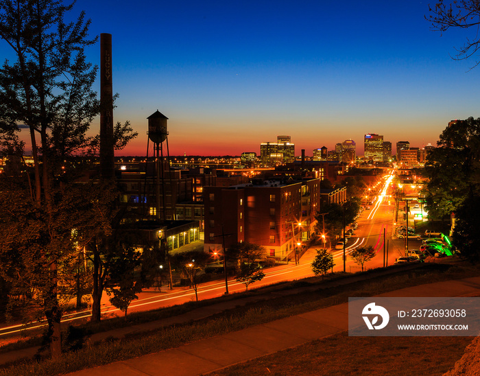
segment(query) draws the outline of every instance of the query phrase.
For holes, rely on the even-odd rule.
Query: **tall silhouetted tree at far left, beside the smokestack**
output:
[[[43,277],[42,283],[34,278],[39,282],[35,293],[42,296],[53,356],[61,353],[58,261],[71,250],[71,228],[63,226],[67,220],[63,204],[69,199],[63,198],[62,162],[88,145],[86,130],[99,112],[91,90],[96,68],[84,56],[84,47],[96,38],[88,38],[90,21],[85,21],[84,12],[77,21],[64,23],[72,8],[73,3],[61,1],[0,2],[0,38],[16,56],[12,63],[5,60],[0,69],[0,132],[3,140],[11,140],[20,124],[29,128],[33,196],[23,198],[33,217],[43,222],[43,229],[30,228],[37,253],[28,254],[31,262],[36,260],[46,270],[34,268]]]

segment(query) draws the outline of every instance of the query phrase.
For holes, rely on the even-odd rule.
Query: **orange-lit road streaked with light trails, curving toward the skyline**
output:
[[[389,186],[392,178],[393,176],[391,175],[385,176],[382,181],[383,188],[380,190],[381,193],[377,197],[374,205],[372,205],[370,210],[363,211],[358,218],[358,228],[355,231],[355,235],[348,239],[348,243],[346,244],[345,264],[343,261],[344,251],[332,250],[333,259],[335,261],[335,266],[333,268],[334,272],[341,272],[344,270],[344,268],[346,272],[358,272],[361,270],[361,267],[352,261],[350,257],[348,257],[350,252],[359,246],[372,246],[376,250],[376,257],[368,261],[368,263],[365,263],[365,268],[367,269],[383,267],[383,250],[384,248],[387,250],[387,245],[387,265],[392,265],[397,257],[403,256],[403,240],[392,239],[392,225],[394,220],[393,199],[390,199],[391,203],[389,203],[389,195],[391,193],[389,192]],[[411,240],[410,242],[412,246],[411,248],[418,249],[418,247],[415,247],[415,242],[420,243],[419,241]],[[418,246],[419,245],[420,244],[418,244]],[[315,248],[317,247],[307,250],[307,252],[305,252],[300,259],[300,263],[298,265],[290,263],[289,265],[275,266],[274,268],[265,270],[265,277],[261,281],[250,285],[250,288],[258,288],[281,281],[293,281],[305,277],[313,277],[314,274],[311,271],[311,261],[316,255]],[[202,285],[200,285],[197,289],[197,294],[199,300],[204,300],[221,296],[225,293],[225,291],[225,280],[211,281],[208,283],[202,283]],[[235,281],[233,278],[230,278],[228,280],[228,292],[233,294],[241,291],[245,291],[245,285]],[[194,300],[195,291],[189,287],[175,287],[173,290],[165,290],[165,287],[163,287],[162,291],[149,290],[141,292],[141,294],[139,294],[139,299],[130,304],[128,313],[178,305]],[[119,309],[110,305],[108,296],[104,294],[104,298],[102,299],[102,316],[106,318],[111,316],[121,316],[122,314],[123,313],[120,312]],[[91,312],[88,310],[84,312],[77,312],[75,314],[66,314],[64,315],[62,322],[86,320],[90,316]],[[0,326],[0,338],[1,336],[5,336],[5,334],[19,333],[22,330],[30,328],[33,329],[34,327],[39,327],[42,325],[45,325],[45,322],[34,323],[28,325],[27,327],[21,324],[8,326],[3,325]]]

